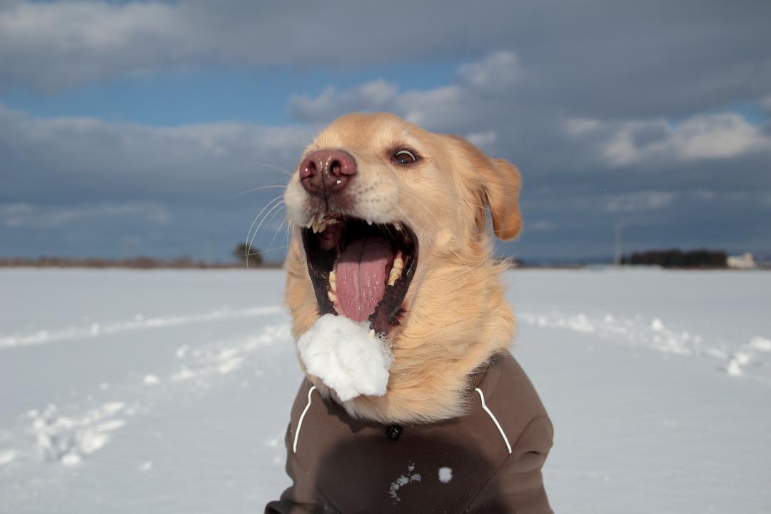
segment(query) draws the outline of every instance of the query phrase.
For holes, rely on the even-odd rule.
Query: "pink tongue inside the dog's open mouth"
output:
[[[338,314],[365,321],[385,294],[385,269],[393,250],[382,237],[366,237],[348,244],[340,254],[335,281]]]

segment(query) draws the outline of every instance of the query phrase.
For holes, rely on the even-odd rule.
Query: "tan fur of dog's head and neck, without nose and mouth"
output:
[[[392,151],[405,144],[423,156],[415,166],[390,162]],[[503,299],[503,266],[493,260],[484,223],[489,207],[494,233],[506,240],[517,237],[517,169],[491,160],[460,137],[428,133],[387,113],[335,120],[306,153],[321,148],[345,149],[358,163],[352,186],[359,201],[352,215],[367,212],[375,221],[402,221],[419,240],[406,313],[389,334],[394,361],[388,391],[343,405],[352,415],[386,423],[462,415],[473,371],[510,346],[516,327]],[[307,225],[314,214],[305,210],[304,195],[294,173],[284,199],[295,226]],[[298,338],[318,318],[298,230],[286,267],[286,304]],[[321,381],[309,378],[334,397]]]

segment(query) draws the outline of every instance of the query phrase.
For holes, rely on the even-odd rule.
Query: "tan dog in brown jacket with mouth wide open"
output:
[[[517,168],[389,113],[322,130],[284,193],[286,305],[389,345],[384,395],[342,401],[308,374],[286,446],[293,485],[265,512],[551,512],[553,428],[508,348],[516,330],[486,228],[522,227]],[[305,365],[300,362],[305,371]]]

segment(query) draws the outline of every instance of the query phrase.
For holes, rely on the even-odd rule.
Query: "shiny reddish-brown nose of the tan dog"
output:
[[[311,194],[341,191],[355,174],[356,160],[343,150],[316,150],[300,163],[300,182]]]

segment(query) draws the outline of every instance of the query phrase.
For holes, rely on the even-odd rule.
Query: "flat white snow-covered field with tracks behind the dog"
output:
[[[556,512],[771,512],[771,273],[507,281]],[[301,379],[283,284],[0,270],[0,512],[262,512]]]

